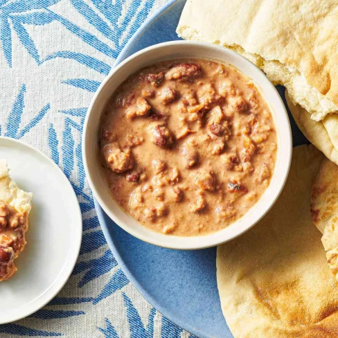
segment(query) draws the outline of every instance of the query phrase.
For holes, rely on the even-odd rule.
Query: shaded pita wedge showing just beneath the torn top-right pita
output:
[[[300,105],[294,105],[287,91],[285,98],[294,121],[305,137],[315,145],[330,161],[338,165],[338,115],[326,116],[323,121],[313,121]],[[335,128],[335,125],[337,127]],[[328,126],[328,129],[327,129]],[[335,145],[337,144],[337,148]]]

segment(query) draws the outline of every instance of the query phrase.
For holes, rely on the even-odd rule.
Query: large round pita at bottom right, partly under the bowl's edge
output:
[[[287,184],[272,210],[217,248],[217,286],[236,338],[338,337],[338,285],[310,213],[323,154],[294,148]]]

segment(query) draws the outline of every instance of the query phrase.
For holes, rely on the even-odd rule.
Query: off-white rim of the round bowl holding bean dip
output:
[[[228,236],[226,236],[226,238],[223,238],[225,236],[222,237],[220,235],[220,236],[216,236],[214,240],[210,240],[210,237],[212,235],[219,234],[224,229],[221,229],[220,231],[216,231],[215,233],[211,233],[211,234],[189,236],[189,237],[166,235],[166,234],[163,234],[163,233],[158,233],[156,231],[152,231],[152,230],[146,228],[141,223],[134,220],[130,215],[125,213],[125,211],[123,211],[123,213],[125,213],[125,215],[130,217],[131,222],[132,221],[136,222],[143,229],[146,229],[147,232],[150,232],[152,234],[156,233],[157,236],[161,237],[163,240],[161,240],[161,242],[159,242],[158,240],[154,240],[154,238],[152,238],[152,236],[147,237],[146,235],[143,235],[142,233],[138,233],[137,231],[132,229],[132,227],[129,226],[126,222],[119,220],[118,217],[115,215],[114,211],[112,211],[112,209],[109,208],[109,206],[105,203],[104,199],[101,198],[100,192],[96,188],[96,184],[94,184],[94,181],[91,178],[91,172],[89,170],[89,165],[88,165],[88,162],[87,162],[87,142],[88,142],[87,131],[88,131],[88,125],[89,125],[89,118],[91,117],[92,114],[97,114],[94,110],[94,107],[96,105],[96,101],[100,97],[100,94],[103,91],[103,89],[105,89],[107,84],[114,77],[114,75],[118,71],[123,69],[124,66],[126,66],[130,62],[134,61],[135,59],[137,59],[138,57],[140,57],[143,54],[150,53],[150,52],[152,52],[152,51],[154,51],[155,49],[158,49],[158,48],[168,48],[168,46],[179,46],[179,45],[190,46],[191,48],[194,48],[194,47],[197,47],[197,48],[199,48],[199,47],[213,48],[215,51],[219,51],[220,53],[229,53],[229,55],[231,55],[232,57],[240,58],[240,59],[242,59],[242,62],[247,63],[248,66],[256,68],[256,70],[258,70],[261,73],[261,75],[265,78],[266,85],[269,86],[270,88],[273,88],[274,93],[276,94],[276,102],[274,104],[272,104],[271,102],[269,102],[267,100],[269,105],[273,108],[272,110],[275,111],[275,112],[272,113],[274,115],[275,125],[276,125],[276,118],[275,118],[276,111],[282,110],[283,113],[284,113],[284,117],[281,116],[281,118],[283,118],[285,120],[285,124],[286,124],[287,128],[284,128],[283,132],[281,132],[280,126],[276,125],[276,130],[278,130],[278,133],[283,134],[283,143],[285,143],[285,150],[286,150],[286,153],[283,156],[283,161],[280,161],[281,163],[279,163],[279,166],[283,166],[283,177],[281,177],[281,181],[278,181],[278,186],[276,186],[276,188],[274,188],[274,190],[273,190],[273,198],[272,198],[271,202],[269,202],[269,205],[263,209],[263,212],[258,213],[258,215],[256,215],[256,217],[254,217],[253,221],[248,222],[247,226],[243,227],[243,229],[240,229],[239,231],[238,231],[238,229],[236,229],[235,231],[233,231],[233,235],[231,235],[231,236],[228,235]],[[193,53],[193,51],[192,51],[192,53]],[[182,54],[184,54],[184,53],[182,53]],[[184,57],[184,56],[182,56],[182,57]],[[188,54],[185,57],[188,57]],[[192,57],[192,56],[190,56],[190,57]],[[197,57],[197,56],[195,56],[195,57]],[[200,58],[207,59],[207,57],[203,57],[202,55],[201,55]],[[155,62],[151,62],[151,64],[154,64],[156,62],[161,62],[161,60],[168,60],[168,59],[170,59],[170,57],[159,57],[159,60],[157,60]],[[229,62],[229,61],[224,60],[224,57],[221,57],[221,56],[218,57],[218,59],[220,61]],[[231,63],[231,62],[229,62],[229,63]],[[140,69],[141,68],[142,67],[140,66]],[[240,70],[240,71],[242,71],[242,70]],[[242,72],[245,74],[244,71],[242,71]],[[127,73],[126,77],[131,75],[131,74],[132,74],[132,72]],[[247,75],[247,74],[245,74],[245,75]],[[252,78],[253,82],[255,82],[255,78],[253,78],[253,77],[251,77],[251,78]],[[261,88],[261,91],[263,91],[263,93],[264,93],[265,90],[263,88]],[[97,114],[97,116],[98,116],[97,118],[100,118],[101,113],[102,112],[100,112],[100,114]],[[279,137],[279,139],[281,139],[281,137]],[[280,144],[280,142],[278,142],[278,145],[279,144]],[[278,147],[278,152],[280,151],[279,148],[280,147]],[[277,154],[278,154],[278,152],[277,152]],[[160,44],[154,44],[154,45],[149,46],[147,48],[143,48],[142,50],[130,55],[129,57],[127,57],[125,60],[123,60],[117,66],[113,67],[113,69],[109,73],[109,75],[107,75],[107,77],[100,84],[100,87],[98,87],[98,90],[96,91],[93,98],[91,99],[91,103],[90,103],[89,108],[87,110],[87,114],[86,114],[86,117],[84,119],[83,132],[82,132],[82,159],[83,159],[84,172],[86,173],[87,181],[88,181],[89,186],[91,188],[91,191],[94,195],[94,198],[96,198],[98,204],[100,204],[100,206],[103,208],[103,211],[105,211],[105,213],[109,216],[109,218],[114,223],[116,223],[118,226],[120,226],[123,230],[127,231],[127,233],[130,233],[130,235],[133,235],[134,237],[139,238],[139,240],[143,240],[144,242],[148,242],[150,244],[154,244],[154,245],[157,245],[159,247],[165,247],[165,248],[168,248],[168,249],[183,249],[183,250],[187,250],[187,249],[188,250],[206,249],[208,247],[214,247],[218,244],[228,242],[229,240],[233,240],[234,238],[237,238],[239,235],[242,235],[242,233],[248,231],[249,229],[251,229],[251,227],[256,225],[268,213],[270,208],[272,208],[272,206],[274,205],[274,203],[278,199],[279,195],[281,194],[283,187],[285,185],[285,182],[287,180],[288,174],[289,174],[289,170],[290,170],[290,166],[291,166],[291,159],[292,159],[292,132],[291,132],[290,120],[287,116],[287,110],[285,108],[285,105],[283,103],[281,96],[278,94],[278,91],[277,91],[276,87],[274,87],[274,84],[272,84],[272,82],[270,82],[269,79],[267,79],[267,76],[265,75],[265,73],[263,73],[263,71],[261,71],[255,64],[251,63],[249,60],[247,60],[242,55],[235,53],[234,51],[231,51],[229,48],[225,48],[223,46],[218,46],[217,44],[211,44],[211,43],[208,43],[208,42],[192,42],[192,41],[177,40],[177,41],[171,41],[171,42],[162,42]],[[275,172],[276,172],[276,166],[277,166],[277,163],[275,165],[274,175],[275,175]],[[274,175],[273,175],[273,177],[274,177]],[[249,209],[249,211],[247,213],[245,213],[242,217],[240,217],[239,220],[236,220],[235,222],[233,222],[229,226],[233,226],[233,225],[237,224],[250,211],[252,211],[252,209],[255,206],[260,204],[260,200],[263,199],[264,194],[265,193],[263,193],[262,197],[260,197],[260,199],[258,199],[258,202],[256,202],[256,204],[254,204],[254,206],[251,207],[251,209]],[[113,201],[114,201],[114,199],[113,199]],[[114,203],[116,203],[116,202],[114,201]],[[118,208],[120,208],[120,210],[121,210],[120,206],[118,206],[117,204],[116,204],[116,206]],[[225,229],[228,229],[229,226],[227,226]],[[177,243],[175,243],[175,239],[177,239],[177,238],[185,238],[187,240],[187,242],[189,242],[189,238],[195,238],[195,240],[199,239],[200,241],[199,241],[199,244],[197,244],[197,243],[195,243],[195,244],[190,244],[190,243],[177,244]]]

